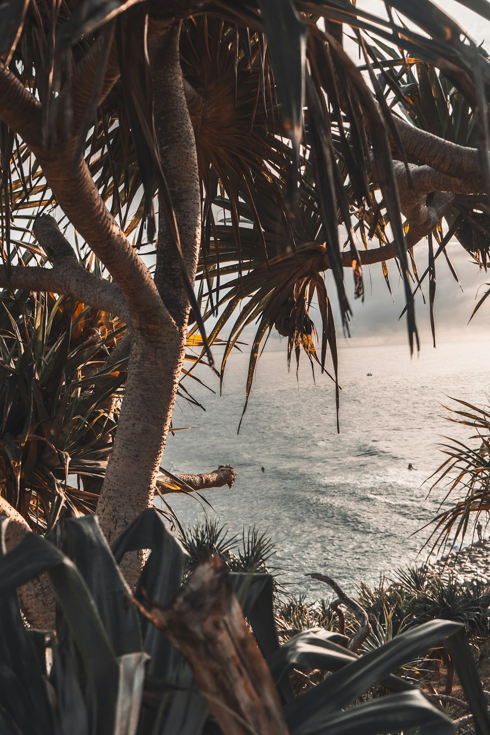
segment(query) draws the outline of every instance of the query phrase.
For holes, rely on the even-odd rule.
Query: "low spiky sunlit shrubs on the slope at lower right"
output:
[[[355,598],[367,612],[370,622],[370,632],[361,645],[361,653],[376,650],[430,620],[453,620],[464,625],[480,677],[488,682],[488,584],[478,579],[460,582],[450,571],[441,577],[430,566],[423,565],[396,570],[391,580],[382,579],[372,587],[360,584]],[[276,606],[276,620],[279,631],[284,630],[288,635],[318,626],[340,631],[352,639],[359,628],[350,609],[342,607],[339,617],[328,600],[309,602],[305,595],[293,595],[281,600]],[[437,689],[443,695],[451,695],[453,686],[457,684],[453,678],[454,667],[450,654],[440,645],[421,652],[412,661],[406,661],[396,673],[425,690],[435,692]],[[452,709],[455,706],[463,710],[467,708],[464,701],[453,701],[450,706]]]

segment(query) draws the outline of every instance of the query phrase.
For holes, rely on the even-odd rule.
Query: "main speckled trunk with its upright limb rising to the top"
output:
[[[201,244],[201,198],[194,132],[179,62],[180,25],[156,42],[152,79],[156,135],[162,168],[176,212],[184,262],[192,283]],[[160,201],[162,212],[162,201]],[[156,287],[176,328],[158,318],[131,318],[131,353],[112,456],[98,501],[99,523],[109,543],[153,504],[156,477],[176,398],[187,337],[189,303],[175,245],[159,217]],[[156,315],[157,316],[157,315]],[[121,568],[136,584],[144,555],[129,555]]]

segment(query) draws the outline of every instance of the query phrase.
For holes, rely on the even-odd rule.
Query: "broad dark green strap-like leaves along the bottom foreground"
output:
[[[93,516],[66,521],[64,551],[54,545],[52,537],[26,534],[6,554],[3,541],[6,525],[7,521],[2,520],[2,733],[217,733],[208,701],[196,689],[190,667],[168,638],[175,641],[179,634],[184,637],[192,634],[196,638],[195,629],[191,633],[186,628],[188,621],[184,615],[174,621],[176,627],[173,629],[167,626],[166,634],[148,620],[151,617],[149,608],[158,610],[162,619],[170,620],[172,611],[179,605],[182,607],[182,601],[187,604],[189,614],[202,616],[207,602],[203,598],[205,590],[201,589],[201,595],[196,595],[197,585],[206,568],[209,570],[213,564],[216,567],[217,562],[200,564],[182,587],[189,557],[154,510],[145,512],[125,531],[112,553]],[[135,595],[137,606],[129,600],[129,590],[120,576],[118,562],[124,553],[140,548],[151,548],[151,554]],[[49,574],[57,596],[55,633],[27,629],[15,594],[19,585],[44,572]],[[224,584],[225,616],[233,608],[233,587],[259,649],[267,659],[277,686],[274,696],[281,703],[279,714],[284,717],[291,735],[327,732],[340,735],[354,731],[374,735],[411,727],[419,727],[420,733],[453,733],[453,725],[442,711],[430,704],[406,679],[392,675],[392,671],[403,667],[406,661],[442,641],[455,661],[478,731],[490,733],[478,673],[461,623],[432,620],[361,657],[345,648],[345,637],[321,628],[302,631],[279,645],[273,620],[270,575],[232,573],[224,578]],[[219,603],[223,600],[211,600],[209,616],[212,616],[213,606]],[[206,620],[203,624],[206,625]],[[223,625],[218,622],[215,628],[207,628],[208,635],[210,630],[215,630],[218,639]],[[212,640],[210,645],[213,645]],[[216,651],[213,661],[200,657],[199,650],[192,650],[192,655],[187,652],[196,675],[206,673],[206,667],[209,670],[217,667],[226,681],[233,680],[238,670],[244,675],[236,658],[221,660],[220,648]],[[249,656],[245,674],[253,678],[261,656],[255,644]],[[288,673],[296,667],[318,669],[330,675],[295,697]],[[270,675],[267,677],[272,686]],[[383,691],[389,693],[372,699],[367,692],[380,682]],[[223,700],[218,703],[209,698],[209,706],[218,721],[219,713],[225,709],[229,715],[229,701],[224,693]],[[253,713],[250,716],[253,717]],[[239,719],[231,721],[236,728],[228,728],[226,735],[250,732],[250,727],[245,728],[248,723]],[[262,735],[266,735],[266,731],[262,730]]]

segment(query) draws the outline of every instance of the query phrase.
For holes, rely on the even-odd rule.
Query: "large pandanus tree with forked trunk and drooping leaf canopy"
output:
[[[429,0],[386,8],[381,18],[348,0],[2,5],[0,284],[16,301],[69,297],[127,327],[98,361],[112,391],[124,384],[118,415],[111,390],[101,397],[109,423],[98,440],[114,441],[94,497],[109,542],[154,501],[189,338],[212,364],[211,345],[234,319],[223,373],[258,320],[247,396],[275,328],[289,359],[304,351],[326,370],[330,353],[338,401],[326,270],[348,329],[345,271],[356,298],[363,266],[381,264],[388,280],[396,259],[413,349],[414,245],[428,237],[431,304],[435,260],[453,235],[486,265],[485,51]],[[487,2],[475,10],[490,18]],[[345,50],[347,29],[361,66]],[[19,307],[16,329],[23,319]],[[67,473],[90,474],[65,459]],[[32,527],[33,506],[4,487],[13,539]],[[143,558],[123,560],[129,584]]]

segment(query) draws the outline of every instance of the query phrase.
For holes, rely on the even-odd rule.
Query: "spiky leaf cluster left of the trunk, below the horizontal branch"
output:
[[[73,476],[104,477],[125,369],[103,368],[124,331],[107,312],[69,298],[1,295],[1,494],[38,531],[62,509],[95,510],[97,496]]]

